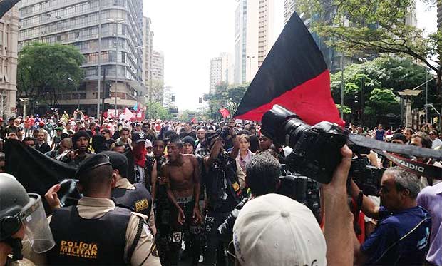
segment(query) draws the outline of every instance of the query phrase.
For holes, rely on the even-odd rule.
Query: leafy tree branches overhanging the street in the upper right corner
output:
[[[436,4],[436,0],[423,1],[428,6]],[[327,36],[329,45],[349,56],[394,53],[420,61],[436,73],[441,93],[437,56],[442,51],[442,31],[425,35],[416,26],[406,25],[415,4],[414,0],[305,0],[298,1],[297,10],[311,18],[314,32]]]

